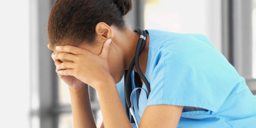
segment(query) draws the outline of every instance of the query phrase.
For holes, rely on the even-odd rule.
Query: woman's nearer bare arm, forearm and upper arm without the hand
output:
[[[130,128],[121,104],[115,83],[108,82],[108,86],[99,86],[97,92],[106,128]],[[106,84],[105,84],[106,85]],[[111,92],[111,93],[110,93]],[[181,117],[183,106],[152,105],[148,106],[141,118],[139,128],[176,128]]]

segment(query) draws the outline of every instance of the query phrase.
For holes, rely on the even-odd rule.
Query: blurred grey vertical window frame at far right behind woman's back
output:
[[[232,60],[237,72],[246,80],[256,95],[256,79],[253,71],[253,24],[254,0],[229,0],[232,5]]]

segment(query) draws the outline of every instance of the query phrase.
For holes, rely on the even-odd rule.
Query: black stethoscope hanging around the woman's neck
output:
[[[143,80],[144,84],[147,87],[148,90],[148,95],[150,93],[150,83],[148,82],[148,79],[145,77],[145,75],[142,73],[140,67],[139,67],[139,55],[141,54],[141,52],[143,51],[143,48],[146,44],[146,37],[147,37],[147,33],[146,31],[140,29],[140,28],[136,28],[134,29],[134,32],[139,34],[139,40],[138,40],[138,44],[137,44],[137,48],[135,51],[135,57],[132,59],[132,62],[128,68],[128,70],[125,71],[124,73],[124,97],[125,97],[125,110],[126,110],[126,115],[128,117],[128,119],[130,120],[130,122],[132,123],[133,121],[135,121],[135,124],[138,127],[137,121],[135,119],[135,114],[132,110],[132,105],[131,105],[131,99],[130,99],[130,95],[132,93],[132,78],[131,78],[131,73],[132,73],[132,69],[135,66],[137,73],[138,74],[136,77],[139,78],[141,77],[141,79]],[[148,98],[147,95],[147,98]],[[132,119],[130,119],[130,113],[132,115]]]

